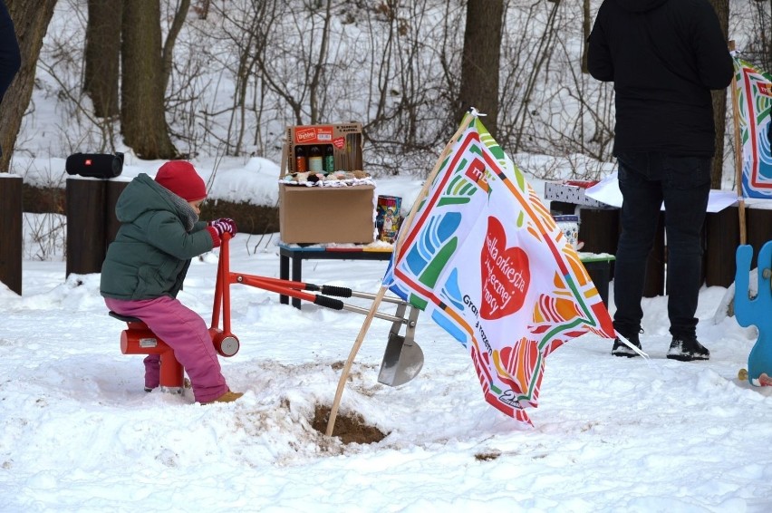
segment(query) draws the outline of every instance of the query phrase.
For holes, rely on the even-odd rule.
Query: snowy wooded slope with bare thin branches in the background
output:
[[[8,4],[13,15],[14,4],[19,9],[24,0]],[[513,156],[575,161],[574,176],[582,179],[599,178],[601,164],[612,160],[613,86],[593,80],[582,65],[584,38],[600,4],[507,0],[501,20],[498,142]],[[729,2],[724,4],[729,9]],[[122,111],[149,110],[160,111],[165,123],[160,129],[181,156],[262,156],[278,162],[286,126],[359,121],[365,169],[375,176],[422,176],[458,125],[465,0],[132,0],[120,13],[124,30],[117,47],[89,44],[95,37],[89,14],[94,5],[111,8],[103,14],[112,20],[108,34],[120,35],[115,7],[123,2],[46,0],[45,5],[52,6],[51,23],[35,63],[34,94],[16,152],[66,157],[77,151],[130,151],[130,132],[141,137],[157,129],[140,122],[132,130]],[[769,69],[770,11],[772,1],[766,0],[733,0],[729,10],[729,39],[737,41],[743,58],[764,69]],[[131,31],[125,30],[127,23]],[[134,30],[140,25],[149,28]],[[150,44],[150,51],[119,61],[121,44]],[[93,101],[89,52],[110,53],[120,63],[111,73],[121,76],[122,90],[109,102]],[[153,79],[163,85],[160,102],[150,101],[152,93],[127,100],[123,90],[134,86],[126,81],[138,80],[147,69],[130,60],[156,52],[164,64]],[[58,126],[36,123],[36,97],[56,99]],[[0,115],[5,110],[4,102]],[[731,116],[730,106],[726,115]],[[47,132],[48,148],[35,146],[40,131]],[[724,140],[723,168],[731,175],[730,131]],[[529,172],[548,179],[553,170]]]

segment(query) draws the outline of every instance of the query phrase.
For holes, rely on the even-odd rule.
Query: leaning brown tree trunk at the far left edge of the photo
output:
[[[3,172],[8,170],[24,111],[32,98],[37,59],[55,4],[56,0],[5,1],[11,19],[14,20],[16,38],[22,53],[22,67],[0,104],[0,147],[3,148],[0,171]]]

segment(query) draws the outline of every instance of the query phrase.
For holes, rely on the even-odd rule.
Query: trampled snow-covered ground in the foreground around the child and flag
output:
[[[274,236],[232,243],[233,271],[278,276]],[[249,241],[247,243],[247,240]],[[376,292],[385,262],[311,261],[304,279]],[[364,317],[232,287],[242,348],[222,359],[238,402],[142,391],[99,276],[24,261],[24,295],[0,286],[0,511],[768,511],[772,390],[738,382],[753,328],[700,294],[707,363],[665,359],[664,298],[647,299],[648,363],[590,336],[546,361],[534,428],[483,400],[466,350],[429,319],[420,375],[377,382],[390,323],[374,320],[339,415],[387,436],[343,444],[314,430]],[[183,302],[211,318],[217,253],[191,266]],[[362,300],[347,300],[368,306]],[[385,311],[388,308],[384,307]]]

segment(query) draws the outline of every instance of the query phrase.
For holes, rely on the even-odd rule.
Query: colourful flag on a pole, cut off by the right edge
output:
[[[735,87],[742,144],[742,191],[746,198],[772,198],[772,75],[738,58]]]

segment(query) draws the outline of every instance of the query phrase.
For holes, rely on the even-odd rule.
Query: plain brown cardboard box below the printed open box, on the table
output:
[[[375,233],[375,187],[279,184],[279,229],[288,244],[370,244]]]

